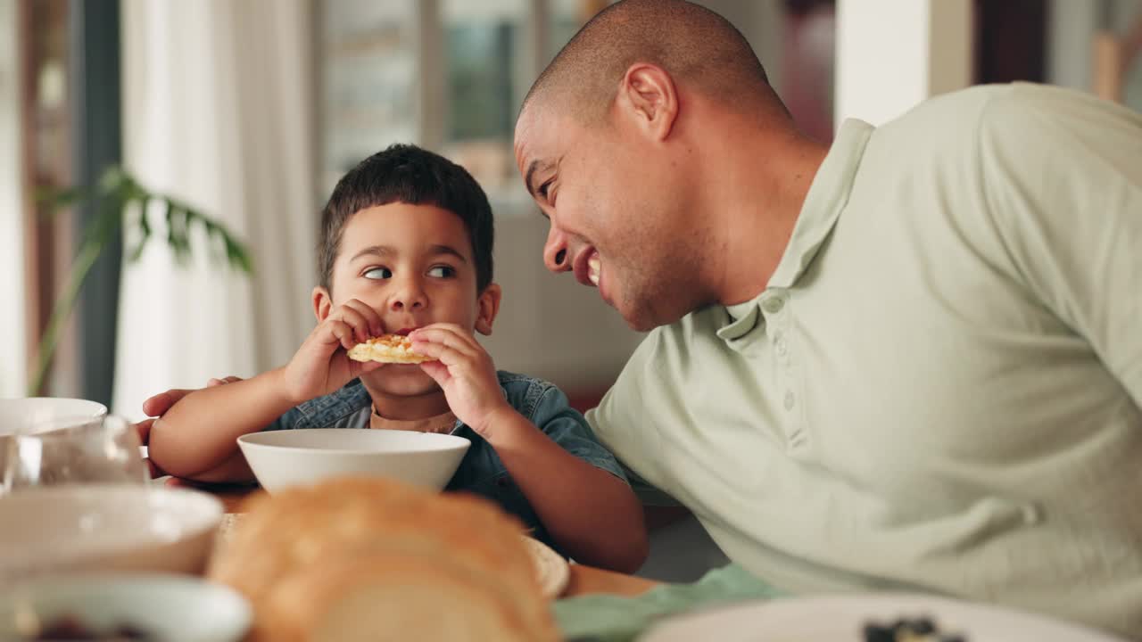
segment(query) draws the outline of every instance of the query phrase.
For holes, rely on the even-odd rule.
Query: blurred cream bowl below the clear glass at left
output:
[[[200,573],[222,523],[206,492],[53,485],[0,497],[0,586],[46,572]]]

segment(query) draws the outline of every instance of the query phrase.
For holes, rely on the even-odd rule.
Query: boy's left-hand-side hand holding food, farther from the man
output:
[[[377,311],[360,300],[349,299],[335,307],[283,369],[286,393],[295,404],[303,403],[380,368],[384,363],[349,359],[347,351],[384,332]]]

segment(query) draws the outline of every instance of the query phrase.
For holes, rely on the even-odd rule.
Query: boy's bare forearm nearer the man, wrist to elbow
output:
[[[568,452],[514,408],[484,435],[544,528],[578,562],[638,570],[649,544],[643,511],[626,481]]]

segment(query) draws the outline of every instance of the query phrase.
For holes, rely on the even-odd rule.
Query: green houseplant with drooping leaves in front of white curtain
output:
[[[95,204],[96,215],[83,228],[75,260],[40,338],[35,372],[29,385],[30,396],[39,394],[43,387],[59,344],[59,332],[75,308],[91,266],[129,225],[135,226],[137,240],[134,247],[126,249],[127,263],[137,262],[147,243],[159,239],[155,242],[164,240],[176,260],[185,264],[195,249],[191,247],[191,232],[194,227],[201,227],[206,232],[206,249],[216,263],[246,274],[254,272],[249,249],[225,225],[178,199],[147,190],[121,167],[107,168],[91,188],[45,190],[39,194],[39,200],[51,211],[80,201],[90,201]],[[166,234],[156,234],[152,227],[156,210],[166,222]]]

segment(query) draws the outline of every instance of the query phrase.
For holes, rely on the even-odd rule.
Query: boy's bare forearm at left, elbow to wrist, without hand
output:
[[[222,466],[238,452],[239,436],[265,428],[295,406],[284,390],[281,370],[271,370],[186,395],[151,428],[151,459],[180,478]]]

